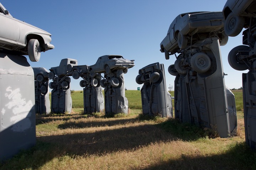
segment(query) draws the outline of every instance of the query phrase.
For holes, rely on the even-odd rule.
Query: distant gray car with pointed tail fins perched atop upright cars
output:
[[[124,59],[121,55],[104,55],[98,58],[94,65],[88,67],[90,75],[95,76],[95,73],[110,74],[113,70],[123,70],[127,72],[128,68],[135,66],[134,60]]]

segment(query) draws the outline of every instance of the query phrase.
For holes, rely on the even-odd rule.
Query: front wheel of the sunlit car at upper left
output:
[[[40,60],[41,49],[37,39],[31,39],[28,42],[27,53],[30,61],[37,62]]]

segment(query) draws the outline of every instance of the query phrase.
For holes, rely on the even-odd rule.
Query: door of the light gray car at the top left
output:
[[[0,6],[0,38],[18,41],[20,39],[20,22],[16,21],[9,13],[5,13],[5,8]]]

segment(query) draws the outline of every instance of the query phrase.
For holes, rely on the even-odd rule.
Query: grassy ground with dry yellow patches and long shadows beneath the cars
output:
[[[0,164],[1,170],[256,169],[245,145],[242,91],[234,92],[238,135],[219,138],[207,128],[142,116],[140,91],[126,91],[129,115],[36,115],[36,146]],[[173,96],[173,92],[171,93]],[[83,93],[72,94],[73,106]]]

